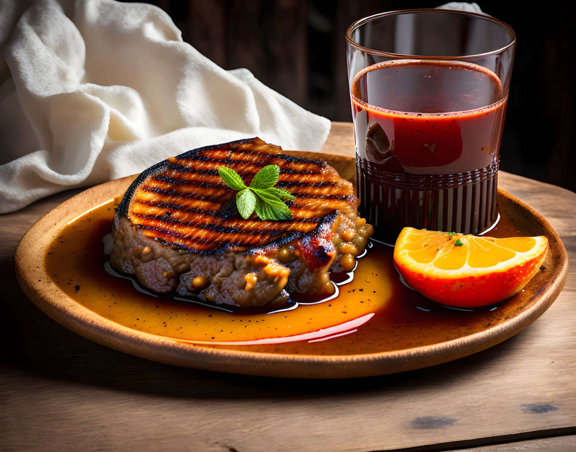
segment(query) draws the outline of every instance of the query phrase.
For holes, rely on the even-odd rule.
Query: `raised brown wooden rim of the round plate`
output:
[[[321,155],[319,154],[319,157]],[[426,346],[354,355],[261,353],[212,348],[204,344],[153,335],[132,330],[84,307],[60,291],[44,266],[47,246],[52,242],[53,234],[79,214],[89,210],[78,208],[78,205],[86,205],[78,201],[95,198],[108,202],[115,196],[109,195],[113,187],[122,186],[135,177],[132,175],[90,187],[43,216],[18,243],[15,255],[16,275],[26,296],[46,315],[70,331],[109,348],[170,365],[294,378],[367,377],[429,367],[478,353],[517,334],[550,307],[562,290],[568,275],[566,248],[548,221],[518,198],[498,189],[499,196],[520,206],[547,232],[550,243],[548,249],[555,248],[559,263],[554,267],[556,276],[552,284],[544,293],[533,294],[533,297],[540,298],[535,304],[492,328]],[[89,204],[90,208],[97,205],[99,204]],[[79,210],[82,212],[78,214]],[[418,359],[415,359],[416,357]],[[361,363],[363,366],[359,366]],[[295,366],[296,364],[301,366]]]

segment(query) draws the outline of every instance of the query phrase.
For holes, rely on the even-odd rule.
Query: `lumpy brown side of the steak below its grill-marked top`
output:
[[[352,210],[327,217],[314,235],[278,247],[200,255],[166,247],[117,215],[110,263],[153,292],[203,294],[215,304],[256,307],[285,304],[297,293],[329,296],[330,272],[353,269],[352,256],[363,252],[372,227]]]

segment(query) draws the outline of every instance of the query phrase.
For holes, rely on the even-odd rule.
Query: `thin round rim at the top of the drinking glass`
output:
[[[360,28],[362,25],[367,24],[368,22],[372,22],[374,20],[380,19],[380,18],[385,17],[385,16],[393,16],[393,15],[397,15],[397,14],[406,14],[406,13],[420,13],[420,12],[456,13],[456,14],[459,14],[461,16],[473,16],[473,17],[477,17],[477,18],[482,19],[482,20],[493,22],[494,24],[500,25],[504,29],[507,30],[507,32],[510,35],[510,43],[505,45],[504,47],[501,47],[499,49],[496,49],[496,50],[493,50],[490,52],[485,52],[485,53],[475,53],[473,55],[435,56],[435,55],[408,55],[406,53],[385,52],[385,51],[381,51],[381,50],[371,49],[368,47],[363,47],[362,45],[356,43],[352,39],[352,33],[356,29]],[[356,49],[358,49],[360,51],[363,51],[366,53],[372,53],[372,55],[382,55],[382,56],[391,56],[392,58],[409,58],[409,59],[418,58],[418,59],[448,60],[448,59],[454,59],[454,58],[484,58],[484,57],[490,56],[490,55],[498,55],[498,53],[502,53],[506,49],[513,47],[513,45],[516,43],[516,33],[514,33],[514,30],[512,29],[512,27],[510,25],[506,24],[506,22],[503,22],[497,18],[494,18],[492,16],[486,16],[484,14],[469,13],[469,12],[454,10],[454,9],[435,9],[435,8],[404,9],[404,10],[397,10],[397,11],[389,11],[386,13],[378,13],[378,14],[373,14],[372,16],[363,17],[363,18],[355,21],[352,25],[350,25],[348,27],[348,29],[346,30],[345,37],[346,37],[346,41],[348,44],[350,44],[352,47],[355,47]]]

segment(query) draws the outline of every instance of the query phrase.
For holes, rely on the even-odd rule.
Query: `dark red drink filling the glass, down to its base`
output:
[[[358,195],[374,238],[494,225],[506,99],[498,76],[472,63],[392,60],[355,76]]]

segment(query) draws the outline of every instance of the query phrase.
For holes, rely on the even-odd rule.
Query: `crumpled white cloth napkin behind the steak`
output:
[[[0,213],[203,145],[318,151],[330,129],[200,55],[155,6],[0,1],[0,45]]]

